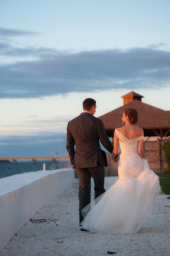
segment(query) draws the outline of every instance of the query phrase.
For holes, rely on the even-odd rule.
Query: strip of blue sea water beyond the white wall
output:
[[[50,160],[37,161],[32,163],[30,161],[18,161],[17,163],[0,163],[0,179],[5,178],[14,174],[24,173],[24,172],[36,172],[43,170],[43,163],[46,164],[46,170],[51,170],[52,162]],[[55,164],[55,169],[62,168],[72,168],[69,159],[57,160]]]

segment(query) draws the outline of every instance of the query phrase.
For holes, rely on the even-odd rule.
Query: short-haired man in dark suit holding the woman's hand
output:
[[[79,223],[83,221],[81,210],[90,203],[91,176],[94,179],[94,198],[105,192],[104,166],[107,167],[108,164],[106,153],[100,148],[99,139],[110,153],[113,151],[113,144],[107,136],[103,121],[94,117],[95,112],[96,101],[85,99],[83,112],[68,122],[67,126],[66,149],[73,169],[77,170],[79,177]],[[83,228],[81,230],[88,231]]]

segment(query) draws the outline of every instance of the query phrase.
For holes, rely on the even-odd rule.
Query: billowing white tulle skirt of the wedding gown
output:
[[[83,210],[83,228],[96,233],[133,234],[152,212],[161,191],[159,177],[143,159],[143,170],[134,179],[118,179],[106,192]]]

